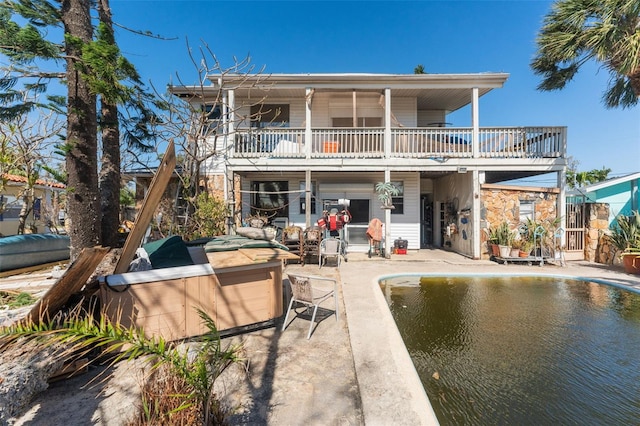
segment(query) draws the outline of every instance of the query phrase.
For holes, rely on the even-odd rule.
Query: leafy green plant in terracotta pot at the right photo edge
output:
[[[611,228],[609,241],[620,252],[625,272],[640,274],[640,213],[619,215]]]

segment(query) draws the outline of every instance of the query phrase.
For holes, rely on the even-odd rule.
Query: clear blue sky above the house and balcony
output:
[[[250,56],[267,73],[507,72],[504,88],[481,98],[481,126],[567,126],[579,170],[640,171],[640,107],[607,110],[608,74],[584,67],[564,90],[539,92],[529,67],[551,1],[145,1],[111,0],[114,21],[172,40],[118,30],[142,78],[160,88],[179,75],[196,83],[205,43],[222,66]],[[468,126],[470,112],[452,114]]]

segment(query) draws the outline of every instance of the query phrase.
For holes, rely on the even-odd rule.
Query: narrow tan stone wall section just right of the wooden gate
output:
[[[609,204],[585,204],[584,259],[589,262],[612,264],[616,259],[616,248],[611,245],[609,235]]]

